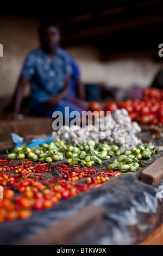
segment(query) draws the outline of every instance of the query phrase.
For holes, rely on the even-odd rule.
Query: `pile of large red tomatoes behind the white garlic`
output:
[[[143,90],[142,99],[107,102],[103,108],[113,113],[116,109],[125,108],[132,121],[139,124],[162,124],[163,125],[163,90],[148,88]],[[90,103],[90,110],[100,111],[98,102]]]

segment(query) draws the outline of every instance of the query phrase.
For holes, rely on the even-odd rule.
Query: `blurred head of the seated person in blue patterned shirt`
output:
[[[52,49],[59,44],[60,32],[53,21],[43,21],[39,28],[41,46]]]

